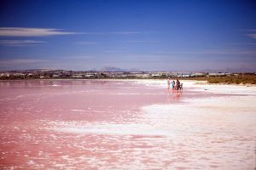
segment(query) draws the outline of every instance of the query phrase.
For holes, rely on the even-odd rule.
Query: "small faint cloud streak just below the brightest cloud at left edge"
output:
[[[0,44],[7,46],[28,46],[38,43],[44,43],[43,41],[35,40],[0,40]]]

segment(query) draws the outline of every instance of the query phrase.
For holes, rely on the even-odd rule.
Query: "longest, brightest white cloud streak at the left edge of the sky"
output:
[[[0,37],[46,37],[82,34],[54,28],[0,27]]]

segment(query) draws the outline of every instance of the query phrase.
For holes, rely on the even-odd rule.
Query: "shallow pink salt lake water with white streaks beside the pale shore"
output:
[[[1,169],[239,167],[252,152],[250,147],[239,149],[250,139],[235,135],[237,145],[226,144],[225,127],[220,129],[223,133],[212,133],[211,125],[204,125],[198,115],[197,120],[179,123],[177,112],[147,115],[143,109],[185,109],[183,99],[224,94],[186,88],[168,93],[154,83],[108,80],[7,81],[0,82],[0,92]],[[168,114],[173,116],[169,122]]]

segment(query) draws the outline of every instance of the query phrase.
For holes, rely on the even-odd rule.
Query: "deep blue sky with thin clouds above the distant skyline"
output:
[[[0,70],[256,71],[253,1],[1,1]]]

